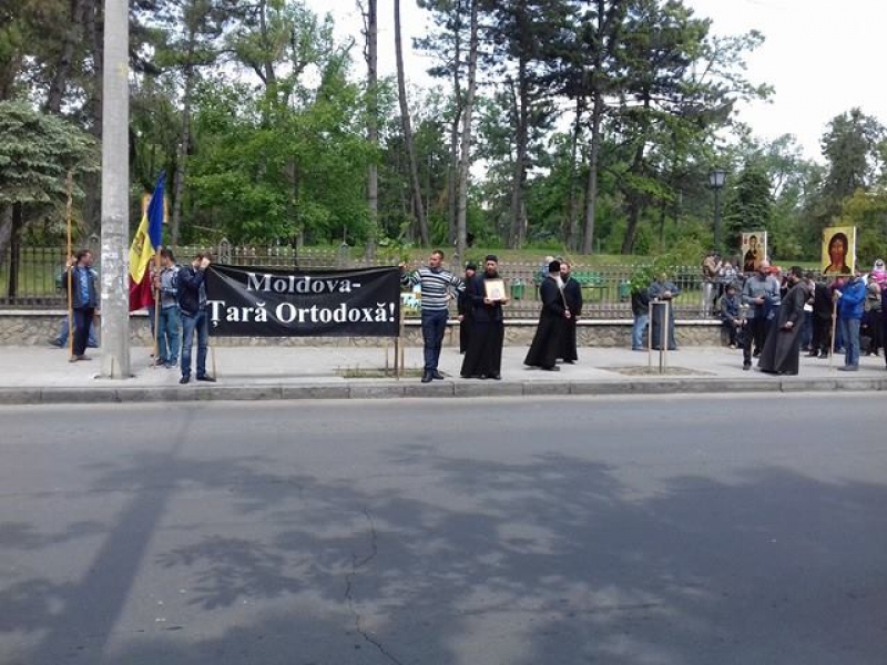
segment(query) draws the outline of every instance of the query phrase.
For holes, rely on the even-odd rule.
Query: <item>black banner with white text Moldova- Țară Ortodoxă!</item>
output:
[[[206,299],[217,337],[397,337],[400,270],[211,265]]]

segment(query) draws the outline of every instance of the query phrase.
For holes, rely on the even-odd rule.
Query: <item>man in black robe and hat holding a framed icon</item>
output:
[[[491,299],[487,297],[487,280],[501,279],[499,259],[490,254],[483,265],[483,274],[475,275],[467,285],[466,291],[471,300],[471,336],[462,360],[459,375],[463,379],[502,378],[502,341],[506,336],[502,305],[507,297]]]

